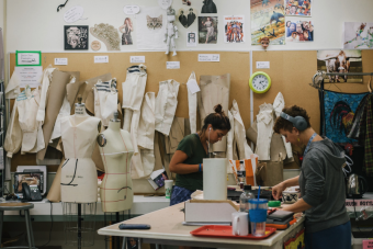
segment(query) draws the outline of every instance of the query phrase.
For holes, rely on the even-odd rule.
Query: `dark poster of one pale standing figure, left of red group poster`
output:
[[[199,44],[217,43],[217,16],[199,16]]]

